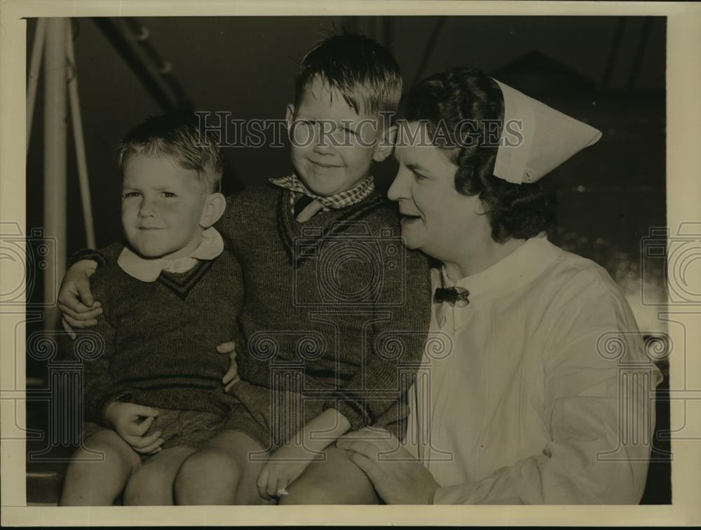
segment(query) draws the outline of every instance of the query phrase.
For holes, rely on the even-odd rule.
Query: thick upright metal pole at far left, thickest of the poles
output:
[[[45,236],[55,240],[55,256],[44,269],[44,301],[55,303],[54,278],[63,278],[66,265],[66,22],[51,18],[46,25],[44,57],[44,212]],[[48,327],[57,324],[55,306],[47,311]]]

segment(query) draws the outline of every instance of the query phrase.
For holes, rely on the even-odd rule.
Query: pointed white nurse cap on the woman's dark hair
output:
[[[495,177],[515,184],[536,182],[601,138],[601,131],[590,125],[492,79],[504,96],[504,121],[494,165]],[[520,122],[523,140],[517,142],[517,137],[512,136],[504,144],[507,130],[512,135],[517,134],[518,125],[513,122]]]

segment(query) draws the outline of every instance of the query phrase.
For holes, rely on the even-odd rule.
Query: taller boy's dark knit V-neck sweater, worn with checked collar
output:
[[[251,186],[227,199],[215,225],[243,271],[240,378],[281,388],[285,373],[303,373],[290,386],[339,409],[353,430],[373,425],[403,397],[423,355],[428,261],[404,247],[397,213],[379,193],[303,224],[290,193]],[[117,251],[74,260],[109,263]]]

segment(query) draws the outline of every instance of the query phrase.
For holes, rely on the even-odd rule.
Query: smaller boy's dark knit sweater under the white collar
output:
[[[109,254],[118,255],[116,247]],[[86,420],[104,424],[104,407],[114,400],[226,414],[211,394],[222,388],[229,367],[229,355],[215,348],[238,339],[234,315],[242,287],[231,250],[198,261],[185,273],[163,271],[151,283],[132,278],[110,260],[90,278],[90,287],[103,313],[74,343],[76,355],[85,359]],[[96,338],[104,351],[100,355],[98,347],[88,360],[90,343],[81,339]]]

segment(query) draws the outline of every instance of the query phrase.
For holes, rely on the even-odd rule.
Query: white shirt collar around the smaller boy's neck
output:
[[[175,259],[145,259],[128,247],[124,247],[117,264],[129,276],[142,282],[155,282],[161,271],[184,273],[197,264],[198,259],[215,259],[224,251],[222,235],[213,226],[202,233],[202,241],[189,256]]]

